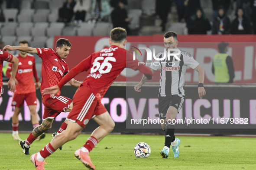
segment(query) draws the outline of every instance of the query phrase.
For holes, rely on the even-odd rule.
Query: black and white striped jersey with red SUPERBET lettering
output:
[[[163,58],[165,52],[165,59],[161,61],[153,60],[150,66],[154,70],[157,70],[159,67],[161,69],[159,94],[162,97],[175,94],[185,96],[183,87],[185,85],[187,66],[194,69],[199,65],[189,53],[183,50],[180,51],[181,54],[177,56],[180,61],[173,56],[170,56],[170,60],[168,60],[167,50],[165,50],[156,54],[156,58]]]

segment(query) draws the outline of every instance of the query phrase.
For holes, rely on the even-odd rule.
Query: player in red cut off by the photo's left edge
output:
[[[10,88],[10,91],[12,92],[14,92],[16,89],[15,76],[16,76],[18,63],[19,63],[19,60],[17,59],[17,57],[13,56],[13,54],[0,50],[0,97],[3,94],[3,71],[2,71],[3,61],[13,63],[13,69],[12,69],[13,75],[10,77],[10,80],[8,81],[8,88]]]

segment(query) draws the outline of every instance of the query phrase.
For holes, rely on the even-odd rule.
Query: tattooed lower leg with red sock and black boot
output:
[[[37,139],[38,136],[42,135],[43,132],[51,129],[53,120],[54,119],[43,120],[42,124],[34,128],[25,141],[19,141],[19,145],[23,149],[24,154],[29,154],[30,145]]]

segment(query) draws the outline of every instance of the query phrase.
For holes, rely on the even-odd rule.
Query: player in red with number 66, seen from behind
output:
[[[126,30],[114,28],[110,32],[110,47],[97,51],[79,63],[55,86],[47,88],[44,94],[57,94],[63,85],[78,73],[90,70],[87,78],[73,97],[73,108],[68,114],[67,129],[55,136],[45,148],[30,157],[36,169],[44,170],[44,159],[57,148],[75,139],[82,129],[93,118],[100,126],[92,132],[83,147],[75,151],[77,157],[87,168],[94,170],[89,152],[108,135],[115,123],[100,100],[105,92],[125,67],[139,70],[148,79],[152,79],[152,71],[145,65],[138,66],[139,61],[133,60],[133,55],[124,49]],[[127,55],[126,55],[127,54]]]

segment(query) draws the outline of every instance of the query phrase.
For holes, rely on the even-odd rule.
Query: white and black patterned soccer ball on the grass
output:
[[[138,158],[147,158],[150,155],[150,147],[148,144],[144,142],[139,142],[135,147],[134,147],[134,154]]]

